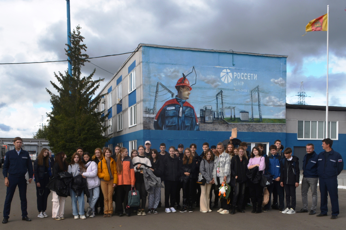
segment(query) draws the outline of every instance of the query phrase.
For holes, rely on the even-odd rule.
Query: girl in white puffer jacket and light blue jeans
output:
[[[85,163],[86,172],[84,172],[82,176],[86,178],[90,193],[90,198],[88,198],[89,207],[85,215],[87,217],[95,217],[95,203],[99,199],[101,182],[100,178],[97,176],[97,164],[90,159],[88,152],[84,152],[83,162]]]

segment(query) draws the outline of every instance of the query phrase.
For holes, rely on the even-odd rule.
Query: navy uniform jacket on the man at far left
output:
[[[34,168],[29,152],[20,149],[18,155],[16,149],[13,149],[5,154],[2,169],[3,177],[25,177],[27,171],[29,172],[29,178],[33,178]]]

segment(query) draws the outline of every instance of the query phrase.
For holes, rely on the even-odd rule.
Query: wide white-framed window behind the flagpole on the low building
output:
[[[326,138],[325,121],[298,121],[297,139],[323,140]],[[338,121],[328,121],[328,138],[338,139]]]

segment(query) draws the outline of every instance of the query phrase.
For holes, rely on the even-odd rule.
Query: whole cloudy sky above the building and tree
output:
[[[310,105],[326,103],[327,32],[306,24],[329,16],[329,105],[346,106],[345,1],[71,0],[71,28],[82,27],[90,57],[131,51],[139,43],[288,55],[287,103],[300,81]],[[1,0],[0,62],[66,59],[65,0]],[[127,56],[91,60],[115,73]],[[51,110],[45,88],[66,63],[0,65],[0,137],[31,137]],[[95,66],[86,64],[89,75]],[[95,78],[112,74],[97,68]],[[293,96],[293,97],[291,97]]]

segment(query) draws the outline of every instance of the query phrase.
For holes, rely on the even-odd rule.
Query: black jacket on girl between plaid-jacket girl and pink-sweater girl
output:
[[[238,155],[232,157],[231,159],[231,182],[230,186],[235,187],[236,182],[238,183],[244,183],[247,181],[246,173],[248,171],[247,164],[248,160],[245,156],[243,156],[242,161],[240,161],[240,158]],[[236,176],[237,179],[236,179]]]

